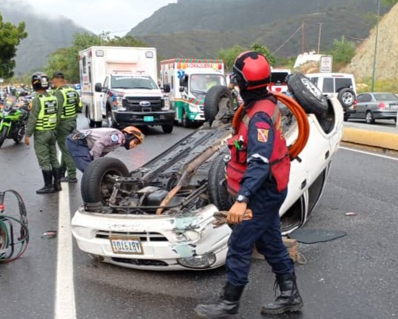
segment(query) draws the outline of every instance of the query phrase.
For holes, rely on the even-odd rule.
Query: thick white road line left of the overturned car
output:
[[[55,319],[76,319],[73,283],[73,246],[69,186],[62,183],[58,198],[58,246],[55,285]]]

